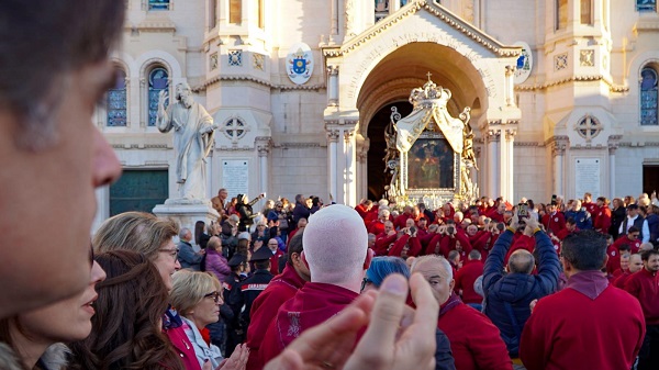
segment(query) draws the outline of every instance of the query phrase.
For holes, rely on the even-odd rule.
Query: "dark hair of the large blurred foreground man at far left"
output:
[[[16,115],[21,147],[56,142],[54,117],[71,72],[108,58],[124,13],[125,1],[118,0],[0,2],[0,109]]]

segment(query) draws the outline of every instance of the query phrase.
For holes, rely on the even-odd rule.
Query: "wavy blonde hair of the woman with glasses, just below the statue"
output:
[[[93,236],[96,251],[133,250],[155,260],[158,249],[179,232],[178,224],[145,212],[125,212],[108,218]]]

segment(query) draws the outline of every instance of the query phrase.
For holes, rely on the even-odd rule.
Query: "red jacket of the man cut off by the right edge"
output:
[[[644,267],[627,279],[625,290],[640,302],[646,323],[659,325],[659,273]]]

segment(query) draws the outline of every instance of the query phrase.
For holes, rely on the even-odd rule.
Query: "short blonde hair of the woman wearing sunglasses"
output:
[[[222,290],[220,280],[208,272],[181,270],[175,272],[171,280],[174,285],[169,293],[169,303],[182,316],[188,316],[204,295]]]

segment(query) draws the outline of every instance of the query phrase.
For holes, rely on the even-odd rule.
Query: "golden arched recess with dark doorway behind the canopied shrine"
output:
[[[458,116],[470,106],[471,122],[482,115],[481,101],[487,97],[482,77],[473,65],[455,49],[435,43],[411,43],[386,56],[368,74],[357,98],[360,134],[369,139],[366,164],[366,194],[371,200],[384,192],[384,127],[390,122],[391,108],[404,117],[412,112],[410,92],[432,79],[447,88],[453,96],[447,109]]]

